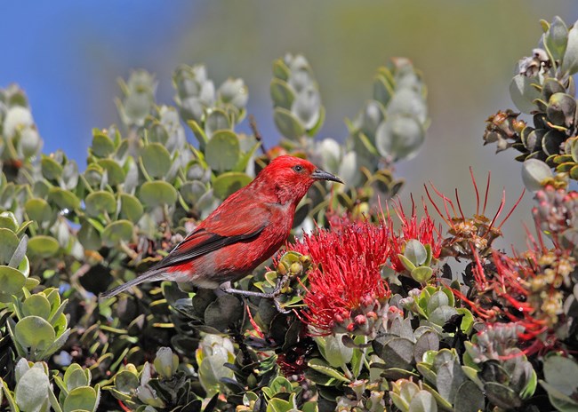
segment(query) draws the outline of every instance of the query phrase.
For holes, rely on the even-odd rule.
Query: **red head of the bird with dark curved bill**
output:
[[[289,155],[273,159],[255,180],[261,180],[263,184],[273,188],[279,202],[291,201],[295,205],[317,180],[343,183],[341,178],[317,168],[313,163]]]

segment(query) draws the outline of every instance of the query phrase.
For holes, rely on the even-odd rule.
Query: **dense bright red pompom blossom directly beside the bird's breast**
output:
[[[305,321],[313,333],[371,334],[389,289],[381,279],[381,266],[389,255],[389,229],[368,220],[330,218],[330,229],[314,234],[289,249],[309,255],[314,269],[304,297]]]

